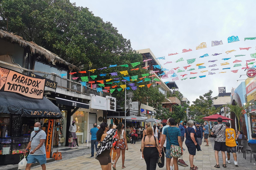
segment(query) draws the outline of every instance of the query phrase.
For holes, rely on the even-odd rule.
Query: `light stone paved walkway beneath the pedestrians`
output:
[[[213,138],[209,138],[209,147],[204,146],[206,143],[203,142],[202,144],[202,151],[199,151],[196,153],[196,156],[194,157],[194,164],[198,167],[198,170],[217,170],[217,168],[214,168],[214,165],[216,164],[215,162],[215,157],[214,157],[214,150],[213,150]],[[184,148],[186,149],[184,151],[184,156],[183,160],[189,165],[188,161],[188,151],[185,146]],[[129,150],[125,152],[125,170],[145,170],[146,169],[146,163],[144,160],[140,159],[140,147],[141,147],[141,142],[136,142],[136,144],[128,144]],[[84,150],[84,151],[83,151]],[[90,152],[88,150],[91,149],[83,149],[80,150],[79,152],[85,152],[82,156],[79,156],[76,154],[71,153],[65,153],[62,155],[63,159],[65,160],[59,160],[55,161],[52,163],[48,163],[46,165],[47,170],[62,170],[62,169],[72,169],[72,170],[101,170],[99,161],[96,160],[95,158],[90,158]],[[89,152],[89,154],[88,154]],[[221,156],[221,154],[219,154]],[[256,170],[256,162],[254,159],[252,159],[252,163],[250,163],[250,156],[247,154],[246,160],[243,158],[243,153],[237,153],[238,156],[238,167],[234,165],[234,160],[233,157],[231,156],[231,164],[227,164],[227,168],[221,168],[219,169],[234,169],[234,170]],[[69,159],[70,157],[70,159]],[[222,165],[222,158],[220,157],[220,165]],[[121,156],[117,162],[116,165],[117,169],[121,169],[122,167],[122,162],[121,162]],[[33,167],[34,170],[41,170],[40,166]],[[159,168],[157,166],[157,170],[165,170],[166,166],[163,168]],[[179,166],[179,170],[189,170],[189,167],[182,167]]]

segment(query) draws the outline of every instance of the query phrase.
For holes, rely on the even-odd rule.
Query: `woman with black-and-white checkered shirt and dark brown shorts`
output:
[[[107,123],[100,124],[100,128],[96,133],[97,141],[100,142],[100,148],[96,153],[96,159],[99,160],[102,170],[111,170],[111,156],[110,149],[112,144],[119,139],[119,136],[115,136],[116,125],[113,125],[113,130],[107,134],[109,127]]]

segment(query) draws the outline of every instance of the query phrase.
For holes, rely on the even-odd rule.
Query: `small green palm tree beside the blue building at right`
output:
[[[229,110],[227,111],[228,113],[233,112],[236,115],[236,118],[238,119],[239,130],[241,130],[240,119],[242,118],[242,116],[244,114],[247,114],[245,110],[247,110],[249,106],[252,106],[252,104],[250,104],[250,102],[248,102],[245,105],[239,106],[235,102],[235,105],[232,105],[231,103],[226,103],[224,106],[229,108]]]

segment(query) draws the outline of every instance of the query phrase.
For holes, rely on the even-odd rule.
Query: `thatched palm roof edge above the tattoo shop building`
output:
[[[69,66],[71,69],[80,70],[75,65],[63,60],[62,58],[60,58],[58,55],[52,53],[51,51],[37,45],[34,42],[25,41],[20,36],[0,30],[0,38],[6,39],[10,42],[17,42],[22,47],[28,47],[30,49],[30,51],[32,52],[32,54],[43,55],[48,62],[53,62],[53,63],[56,62],[56,63],[60,63],[60,64],[65,64],[65,65]]]

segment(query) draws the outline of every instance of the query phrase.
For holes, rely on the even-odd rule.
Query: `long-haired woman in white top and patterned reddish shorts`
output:
[[[117,160],[119,159],[121,152],[122,152],[122,169],[125,168],[124,166],[124,159],[125,159],[125,149],[128,150],[128,146],[127,146],[127,139],[126,139],[126,132],[123,129],[124,124],[121,122],[118,124],[117,127],[117,134],[120,136],[119,140],[116,142],[116,158],[115,158],[115,162],[113,165],[113,169],[116,170],[116,163]]]

